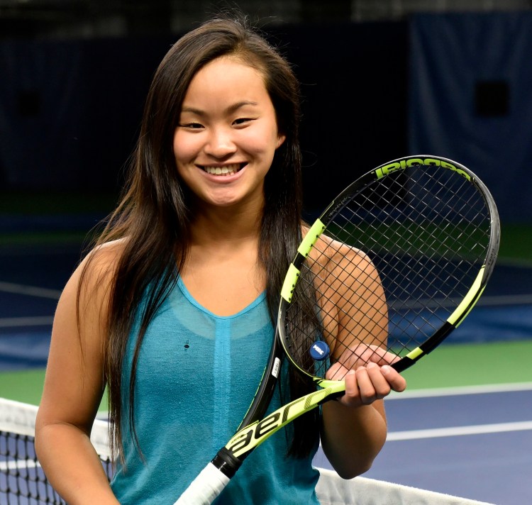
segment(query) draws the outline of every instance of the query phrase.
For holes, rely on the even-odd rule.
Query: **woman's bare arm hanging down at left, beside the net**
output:
[[[101,255],[88,272],[77,325],[78,268],[55,313],[43,397],[35,423],[35,451],[52,486],[71,505],[118,504],[89,440],[104,392],[106,282],[94,290]],[[109,255],[107,255],[109,260]],[[108,263],[109,264],[109,263]],[[81,330],[81,335],[79,330]]]

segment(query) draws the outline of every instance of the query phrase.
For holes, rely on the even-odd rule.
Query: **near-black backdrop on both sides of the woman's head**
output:
[[[268,33],[301,79],[305,200],[313,212],[356,174],[406,154],[406,24]],[[4,189],[118,187],[150,79],[176,39],[1,42]]]

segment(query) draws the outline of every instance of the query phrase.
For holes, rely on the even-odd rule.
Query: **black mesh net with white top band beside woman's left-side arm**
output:
[[[65,504],[40,467],[33,444],[37,406],[0,399],[0,505]],[[107,423],[96,420],[91,441],[111,476]]]

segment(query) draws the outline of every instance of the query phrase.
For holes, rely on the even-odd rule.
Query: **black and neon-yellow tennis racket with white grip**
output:
[[[475,306],[499,235],[492,195],[453,160],[404,157],[350,184],[289,266],[269,362],[240,428],[176,504],[211,504],[260,443],[345,392],[342,371],[373,361],[401,372],[430,353]],[[283,356],[318,388],[265,416]]]

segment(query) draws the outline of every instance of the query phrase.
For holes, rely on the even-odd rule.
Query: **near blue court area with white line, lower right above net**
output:
[[[365,477],[497,505],[532,503],[532,383],[493,389],[387,401],[388,440]],[[315,463],[330,467],[321,454]]]

